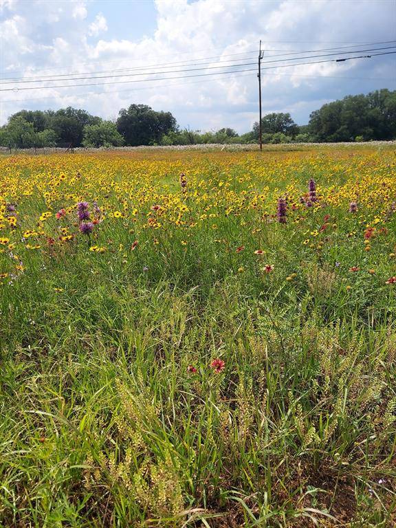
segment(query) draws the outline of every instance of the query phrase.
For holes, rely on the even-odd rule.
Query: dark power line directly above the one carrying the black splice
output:
[[[374,52],[379,50],[393,50],[395,49],[395,46],[388,46],[388,47],[377,47],[377,48],[366,48],[365,50],[355,50],[355,51],[349,51],[349,52],[334,52],[334,53],[328,53],[328,54],[319,54],[319,55],[311,55],[311,56],[304,56],[304,57],[291,57],[291,58],[283,58],[283,59],[277,59],[274,61],[263,61],[262,64],[269,64],[269,63],[282,63],[287,61],[301,61],[305,60],[307,58],[320,58],[320,57],[327,57],[327,56],[334,56],[334,55],[344,55],[344,54],[350,54],[350,53],[364,53],[364,52]],[[360,57],[362,58],[362,57]],[[221,62],[221,61],[220,61]],[[229,62],[229,61],[224,61]],[[65,80],[90,80],[90,79],[104,79],[104,78],[118,78],[118,77],[135,77],[135,76],[151,76],[151,75],[162,75],[162,74],[176,74],[176,73],[186,73],[186,72],[198,72],[202,70],[207,69],[220,69],[220,68],[233,68],[233,67],[241,67],[241,66],[250,66],[254,65],[255,63],[241,63],[241,64],[228,64],[224,66],[207,66],[201,68],[190,68],[190,69],[175,69],[170,70],[168,72],[141,72],[136,74],[112,74],[112,75],[105,75],[105,76],[85,76],[85,77],[70,77]],[[142,68],[144,69],[144,67]],[[21,84],[21,83],[52,83],[57,82],[58,80],[63,80],[59,78],[50,78],[50,79],[38,79],[38,80],[29,80],[27,78],[23,78],[23,80],[19,81],[9,81],[5,83],[1,83],[3,85],[10,85],[10,84]],[[10,89],[11,90],[11,89]],[[2,89],[1,91],[4,91]]]

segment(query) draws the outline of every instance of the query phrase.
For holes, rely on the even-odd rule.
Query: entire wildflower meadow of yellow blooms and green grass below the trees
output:
[[[3,155],[0,228],[1,527],[395,525],[394,147]]]

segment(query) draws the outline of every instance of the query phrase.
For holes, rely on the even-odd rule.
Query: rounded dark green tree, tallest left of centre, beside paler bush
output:
[[[162,136],[176,131],[176,120],[170,112],[157,112],[146,104],[131,104],[121,109],[117,130],[127,145],[159,144]]]

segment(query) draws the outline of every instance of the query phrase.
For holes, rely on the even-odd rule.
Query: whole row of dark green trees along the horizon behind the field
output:
[[[324,104],[299,126],[289,113],[269,113],[262,119],[264,143],[344,142],[396,139],[396,91],[381,89]],[[203,143],[255,143],[259,122],[239,135],[230,128],[201,133],[180,129],[172,113],[146,104],[121,109],[114,121],[85,110],[21,110],[0,127],[0,145],[9,148],[45,146],[138,146]]]

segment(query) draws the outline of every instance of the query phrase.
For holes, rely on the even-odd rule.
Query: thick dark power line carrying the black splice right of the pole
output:
[[[297,63],[297,64],[284,64],[281,66],[270,66],[265,67],[263,69],[274,69],[274,68],[284,68],[284,67],[290,67],[290,66],[303,66],[303,65],[311,65],[311,64],[322,64],[322,63],[332,63],[332,62],[345,62],[345,61],[352,61],[354,59],[360,59],[360,58],[371,58],[373,56],[380,56],[380,55],[392,55],[396,52],[384,52],[384,53],[377,53],[377,54],[371,54],[371,55],[362,55],[362,56],[352,56],[352,57],[345,57],[345,58],[332,58],[327,59],[325,61],[311,61],[308,63]],[[254,63],[255,64],[255,63]],[[187,70],[191,71],[191,70]],[[173,80],[173,79],[183,79],[183,78],[191,78],[191,77],[207,77],[207,76],[213,76],[213,75],[221,75],[221,74],[234,74],[234,73],[241,73],[241,72],[255,72],[256,68],[250,68],[250,69],[241,69],[241,70],[234,70],[231,72],[211,72],[210,74],[193,74],[188,76],[175,76],[175,77],[165,77],[165,78],[153,78],[151,80]],[[171,72],[166,72],[171,73]],[[146,79],[136,79],[136,80],[118,80],[118,81],[111,81],[110,83],[88,83],[88,84],[77,84],[77,85],[56,85],[56,86],[38,86],[38,87],[22,87],[22,88],[1,88],[0,91],[20,91],[20,90],[39,90],[39,89],[57,89],[57,88],[74,88],[78,86],[104,86],[104,85],[115,85],[115,84],[125,84],[125,83],[144,83],[147,82]]]

